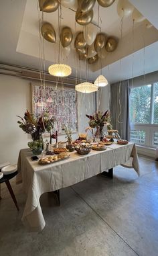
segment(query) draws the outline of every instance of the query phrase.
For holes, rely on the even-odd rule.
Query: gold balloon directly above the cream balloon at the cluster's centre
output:
[[[77,9],[75,18],[78,24],[86,26],[90,22],[92,22],[93,10],[90,10],[87,13],[83,13],[82,11],[80,11],[80,9]]]

